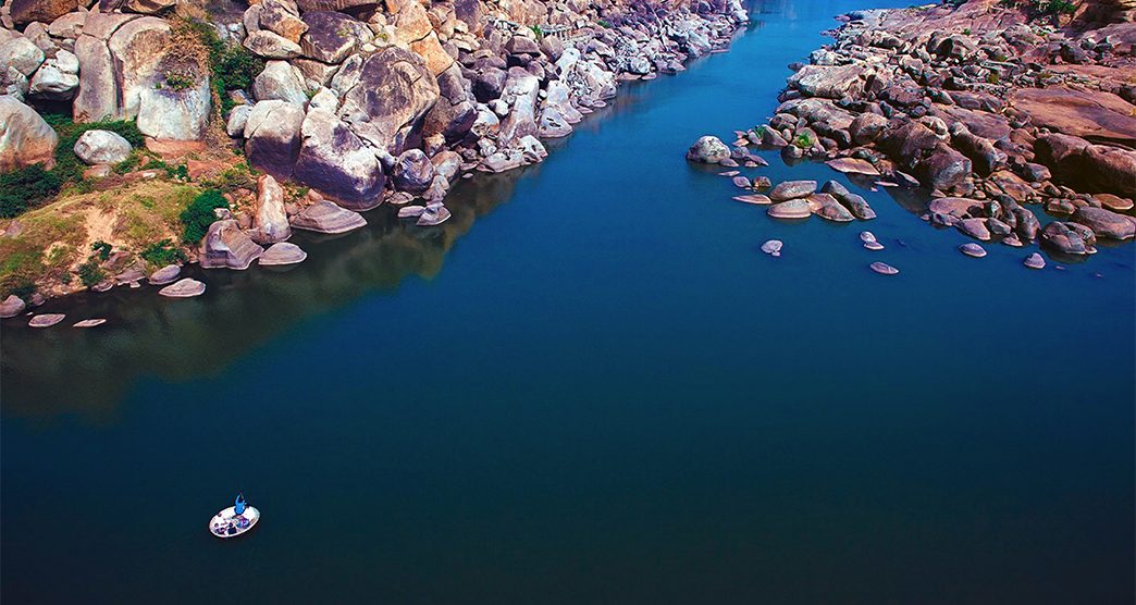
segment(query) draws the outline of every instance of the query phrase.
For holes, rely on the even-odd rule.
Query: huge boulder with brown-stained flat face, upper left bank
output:
[[[340,117],[360,138],[391,154],[417,146],[423,118],[437,102],[437,81],[417,54],[387,47],[368,57],[343,95]]]

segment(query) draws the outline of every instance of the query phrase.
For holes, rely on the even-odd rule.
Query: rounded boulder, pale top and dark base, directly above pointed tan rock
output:
[[[249,163],[277,179],[291,178],[300,157],[303,106],[260,101],[244,123],[244,154]]]

